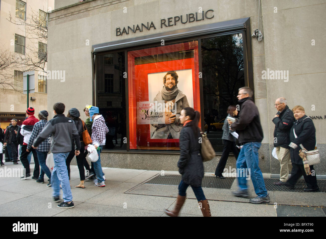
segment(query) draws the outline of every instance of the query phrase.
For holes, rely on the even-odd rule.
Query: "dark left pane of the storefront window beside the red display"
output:
[[[103,149],[127,149],[125,71],[125,52],[96,56],[96,106],[109,129]]]

